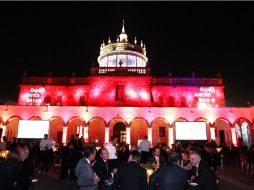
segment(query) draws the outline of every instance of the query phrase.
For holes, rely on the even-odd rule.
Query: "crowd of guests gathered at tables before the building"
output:
[[[59,178],[76,180],[80,190],[216,190],[224,164],[239,164],[243,174],[254,174],[254,145],[218,146],[213,140],[169,147],[152,146],[144,136],[130,147],[111,137],[98,146],[72,135],[63,145],[45,134],[31,143],[3,137],[0,151],[6,150],[8,154],[0,158],[0,190],[29,190],[35,171],[48,172],[56,163],[61,165]],[[151,175],[148,165],[154,166]]]

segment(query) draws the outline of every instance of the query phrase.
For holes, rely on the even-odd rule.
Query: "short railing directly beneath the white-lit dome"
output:
[[[92,67],[91,75],[149,75],[147,67]]]

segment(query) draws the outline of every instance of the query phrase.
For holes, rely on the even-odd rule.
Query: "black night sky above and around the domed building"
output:
[[[0,104],[21,76],[87,76],[102,40],[147,47],[153,76],[216,77],[228,106],[254,103],[253,2],[0,2]]]

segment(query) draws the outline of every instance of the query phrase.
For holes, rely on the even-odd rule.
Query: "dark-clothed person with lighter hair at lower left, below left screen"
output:
[[[34,172],[33,160],[29,157],[29,149],[26,146],[18,147],[18,151],[22,165],[18,178],[18,187],[20,190],[29,190]]]

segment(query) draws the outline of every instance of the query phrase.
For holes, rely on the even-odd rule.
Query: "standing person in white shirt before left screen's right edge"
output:
[[[48,134],[44,134],[44,138],[40,141],[41,172],[43,172],[44,168],[46,172],[49,170],[53,144],[53,141],[48,138]]]

